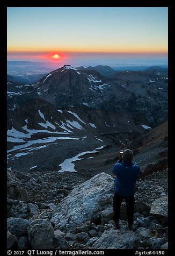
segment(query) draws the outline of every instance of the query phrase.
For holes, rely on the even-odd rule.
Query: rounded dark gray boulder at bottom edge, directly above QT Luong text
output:
[[[36,219],[28,226],[28,239],[32,249],[52,249],[54,229],[45,219]]]

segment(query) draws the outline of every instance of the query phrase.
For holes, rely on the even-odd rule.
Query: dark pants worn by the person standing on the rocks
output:
[[[123,197],[119,196],[118,194],[114,194],[113,197],[113,210],[114,210],[114,217],[113,221],[118,222],[120,219],[120,207],[123,199],[126,202],[126,208],[127,208],[127,216],[128,216],[128,224],[133,224],[134,222],[134,203],[135,203],[135,198],[134,196],[130,197]]]

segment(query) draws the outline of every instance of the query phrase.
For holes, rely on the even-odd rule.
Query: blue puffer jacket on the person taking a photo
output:
[[[115,178],[115,192],[123,197],[130,197],[135,194],[135,185],[137,176],[141,174],[140,167],[133,162],[122,162],[118,160],[115,163],[113,174]]]

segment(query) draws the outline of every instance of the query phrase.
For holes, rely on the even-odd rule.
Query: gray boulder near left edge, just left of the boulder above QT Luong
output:
[[[9,217],[7,220],[7,230],[14,236],[21,237],[27,234],[27,227],[30,221],[23,218]]]

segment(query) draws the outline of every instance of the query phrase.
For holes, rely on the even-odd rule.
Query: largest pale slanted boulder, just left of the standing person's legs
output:
[[[78,224],[92,219],[98,212],[110,207],[112,198],[113,177],[106,173],[97,174],[75,187],[60,202],[51,221],[56,228],[72,231]]]

